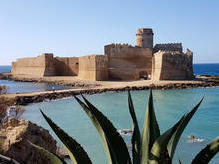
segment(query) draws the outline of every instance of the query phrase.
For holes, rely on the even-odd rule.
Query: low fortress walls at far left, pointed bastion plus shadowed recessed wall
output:
[[[33,58],[21,58],[12,63],[12,75],[19,76],[77,76],[78,57],[53,58],[53,54],[42,54]]]

